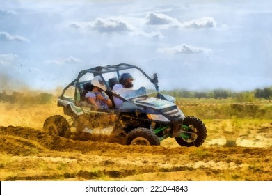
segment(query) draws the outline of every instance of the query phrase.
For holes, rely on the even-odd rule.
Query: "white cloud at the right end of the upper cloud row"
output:
[[[214,28],[216,26],[216,21],[213,17],[201,17],[199,19],[191,20],[189,22],[182,23],[184,28]]]

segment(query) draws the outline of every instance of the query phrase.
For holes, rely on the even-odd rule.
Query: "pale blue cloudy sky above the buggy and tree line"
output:
[[[272,1],[1,0],[0,91],[129,63],[163,90],[272,86]]]

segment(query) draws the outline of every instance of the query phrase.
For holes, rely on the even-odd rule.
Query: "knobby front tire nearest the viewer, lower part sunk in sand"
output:
[[[136,128],[127,134],[127,145],[159,146],[159,138],[146,128]]]

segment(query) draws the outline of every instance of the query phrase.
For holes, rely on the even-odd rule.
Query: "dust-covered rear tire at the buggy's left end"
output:
[[[71,133],[68,121],[61,115],[49,116],[43,123],[43,129],[50,135],[67,138],[70,137]]]

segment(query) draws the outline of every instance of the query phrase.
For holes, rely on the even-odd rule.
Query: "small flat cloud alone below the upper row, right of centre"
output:
[[[207,49],[204,47],[195,47],[192,45],[177,45],[175,47],[164,47],[157,49],[157,52],[161,54],[202,54],[202,53],[210,53],[211,49]]]

